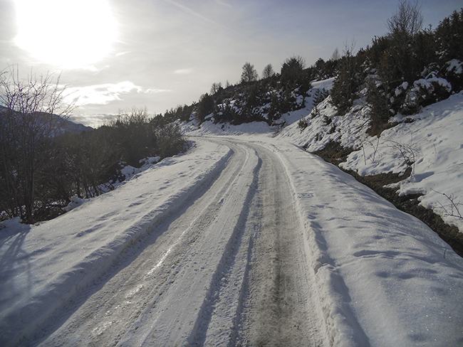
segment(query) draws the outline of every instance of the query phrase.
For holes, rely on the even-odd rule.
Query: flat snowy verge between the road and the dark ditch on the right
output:
[[[347,173],[270,145],[293,181],[333,346],[463,346],[462,258]]]

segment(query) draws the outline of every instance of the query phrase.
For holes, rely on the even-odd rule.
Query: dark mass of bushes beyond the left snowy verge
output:
[[[182,107],[183,110],[183,107]],[[118,119],[91,132],[62,134],[44,137],[36,142],[36,150],[43,149],[40,173],[34,181],[34,194],[30,217],[26,217],[24,200],[11,191],[7,179],[16,180],[15,191],[21,192],[21,181],[11,171],[1,166],[0,212],[1,218],[20,216],[28,223],[48,220],[63,213],[71,196],[90,198],[113,188],[112,183],[123,179],[120,173],[123,163],[139,167],[140,159],[147,156],[172,156],[184,149],[186,141],[177,124],[160,127],[155,123],[161,119],[150,119],[146,110],[132,109],[120,112]],[[5,122],[0,123],[0,133],[5,134]],[[24,127],[30,126],[26,122]],[[0,136],[1,145],[17,143],[20,137],[12,132],[9,138]],[[9,159],[18,162],[14,152]],[[2,162],[4,151],[0,152]],[[5,188],[4,188],[5,187]]]

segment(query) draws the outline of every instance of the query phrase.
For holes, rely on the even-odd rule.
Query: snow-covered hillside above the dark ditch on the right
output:
[[[286,139],[307,151],[318,151],[331,140],[356,149],[348,156],[344,169],[360,175],[404,173],[410,166],[412,175],[397,183],[398,193],[423,194],[420,205],[432,208],[437,215],[463,232],[463,92],[437,102],[408,117],[397,116],[395,127],[380,137],[369,137],[368,107],[361,102],[353,112],[335,116],[328,100],[319,105],[320,115],[304,115],[308,126],[297,122],[281,131]],[[454,205],[452,206],[452,203]]]

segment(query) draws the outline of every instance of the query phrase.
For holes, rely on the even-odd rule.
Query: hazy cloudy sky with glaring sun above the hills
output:
[[[424,26],[463,5],[421,0]],[[0,0],[0,70],[61,73],[79,97],[74,119],[97,126],[119,110],[191,104],[244,63],[277,72],[387,32],[397,0]]]

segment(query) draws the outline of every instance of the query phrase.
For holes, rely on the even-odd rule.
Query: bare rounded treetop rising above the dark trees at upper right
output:
[[[393,36],[415,36],[421,30],[423,16],[418,0],[399,0],[397,12],[387,19],[387,28]]]

